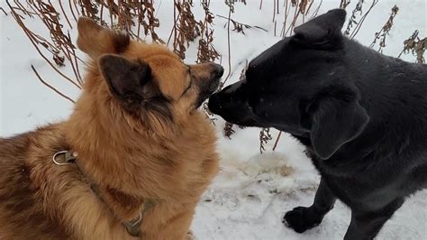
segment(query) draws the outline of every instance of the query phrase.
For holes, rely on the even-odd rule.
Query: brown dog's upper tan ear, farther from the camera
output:
[[[92,58],[104,53],[121,53],[131,42],[129,34],[105,29],[88,17],[78,18],[77,47]]]

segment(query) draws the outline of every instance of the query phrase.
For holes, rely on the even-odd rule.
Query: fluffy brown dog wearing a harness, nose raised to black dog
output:
[[[0,139],[0,238],[185,238],[218,171],[197,107],[223,68],[187,66],[87,18],[78,33],[91,60],[74,113]]]

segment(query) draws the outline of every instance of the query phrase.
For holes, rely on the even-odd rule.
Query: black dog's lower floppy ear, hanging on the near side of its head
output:
[[[308,110],[312,116],[311,141],[321,159],[328,159],[340,147],[356,138],[368,125],[369,116],[351,92],[328,89]]]

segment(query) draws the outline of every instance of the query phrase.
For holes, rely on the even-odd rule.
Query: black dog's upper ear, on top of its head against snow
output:
[[[310,45],[322,45],[341,37],[341,28],[344,25],[346,12],[343,9],[334,9],[314,19],[295,27],[296,42]]]

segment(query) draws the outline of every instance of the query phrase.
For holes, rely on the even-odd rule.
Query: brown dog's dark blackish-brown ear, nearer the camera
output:
[[[98,65],[114,97],[126,103],[144,98],[144,87],[151,78],[147,63],[127,60],[115,54],[104,54],[99,58]]]

